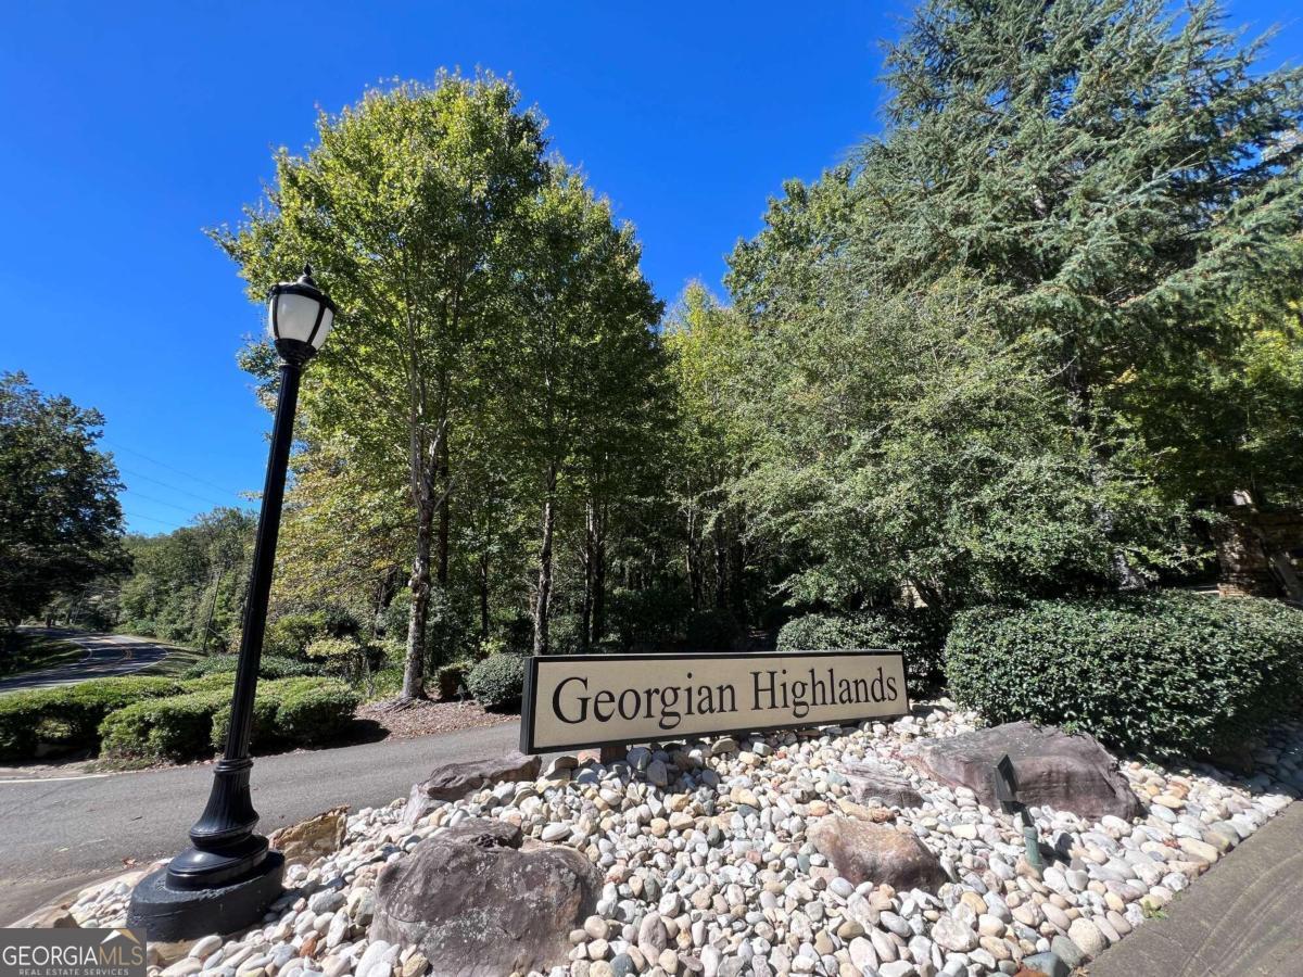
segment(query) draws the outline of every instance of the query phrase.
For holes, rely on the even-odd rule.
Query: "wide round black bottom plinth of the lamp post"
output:
[[[159,869],[132,892],[126,925],[159,943],[235,933],[262,921],[267,907],[284,894],[284,875],[280,852],[267,852],[253,873],[216,888],[175,888],[168,885],[167,869]]]

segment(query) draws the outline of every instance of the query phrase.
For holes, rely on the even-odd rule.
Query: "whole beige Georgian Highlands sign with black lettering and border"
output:
[[[909,711],[899,651],[528,659],[521,753],[829,726]]]

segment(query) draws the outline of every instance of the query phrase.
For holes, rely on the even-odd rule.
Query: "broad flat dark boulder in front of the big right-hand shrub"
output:
[[[1023,804],[1048,804],[1092,821],[1143,813],[1117,761],[1088,733],[1070,736],[1053,726],[1005,723],[916,743],[904,758],[934,780],[968,787],[982,804],[998,809],[994,767],[1006,753],[1014,761]]]

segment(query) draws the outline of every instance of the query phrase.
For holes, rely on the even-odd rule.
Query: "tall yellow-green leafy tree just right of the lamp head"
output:
[[[218,240],[250,294],[304,257],[340,306],[305,378],[310,430],[353,439],[352,464],[408,472],[414,512],[403,698],[423,696],[433,586],[448,573],[455,444],[478,436],[477,357],[502,328],[516,263],[506,228],[545,178],[542,120],[507,82],[440,74],[370,91],[318,120],[318,145],[280,151],[262,208]]]

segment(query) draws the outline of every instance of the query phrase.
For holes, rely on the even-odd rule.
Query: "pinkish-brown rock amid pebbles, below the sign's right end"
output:
[[[809,840],[838,875],[856,886],[886,882],[896,890],[934,892],[946,881],[937,856],[912,834],[890,825],[834,815],[814,825]]]

